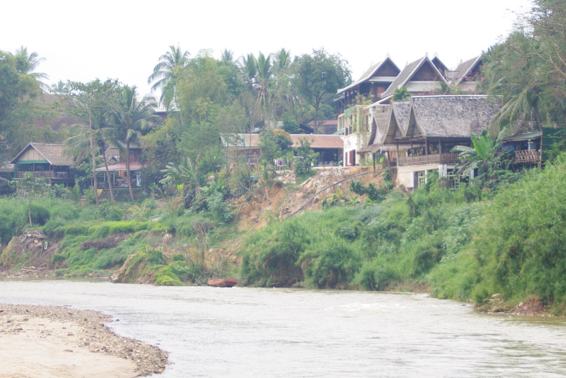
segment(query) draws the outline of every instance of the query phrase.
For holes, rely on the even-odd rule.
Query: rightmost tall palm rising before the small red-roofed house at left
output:
[[[145,96],[138,100],[136,86],[123,86],[119,101],[119,108],[112,112],[114,124],[118,128],[118,133],[114,136],[114,143],[119,141],[116,146],[120,152],[126,154],[126,177],[130,198],[134,201],[134,191],[130,179],[130,146],[139,145],[141,136],[147,134],[153,124],[160,120],[160,116],[155,115],[157,103],[155,98]]]

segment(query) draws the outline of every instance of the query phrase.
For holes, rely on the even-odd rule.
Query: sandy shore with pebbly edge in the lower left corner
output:
[[[129,378],[160,373],[167,353],[115,334],[109,316],[0,304],[0,378]]]

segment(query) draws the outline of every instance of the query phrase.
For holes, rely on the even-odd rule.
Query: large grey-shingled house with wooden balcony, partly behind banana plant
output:
[[[488,127],[501,104],[487,95],[430,95],[393,101],[391,107],[381,146],[397,170],[397,184],[418,188],[432,170],[459,185],[461,177],[454,170],[458,154],[452,148],[471,146],[470,133]],[[533,132],[531,125],[516,125],[505,140],[509,148],[514,146],[516,163],[541,161],[541,133]]]

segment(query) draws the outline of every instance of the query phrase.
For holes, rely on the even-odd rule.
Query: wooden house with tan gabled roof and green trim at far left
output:
[[[49,179],[51,185],[74,185],[70,171],[74,161],[63,153],[61,144],[29,142],[10,163],[14,164],[14,179],[20,179],[25,172],[33,172],[35,177]]]

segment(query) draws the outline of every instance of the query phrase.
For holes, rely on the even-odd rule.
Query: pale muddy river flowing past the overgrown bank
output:
[[[0,303],[110,314],[170,352],[164,378],[566,376],[566,320],[425,294],[5,279]]]

